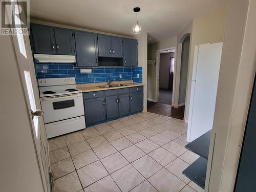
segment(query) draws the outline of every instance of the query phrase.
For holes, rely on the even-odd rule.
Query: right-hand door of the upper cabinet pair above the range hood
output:
[[[54,29],[57,54],[75,55],[75,39],[73,33],[74,31],[69,29]]]

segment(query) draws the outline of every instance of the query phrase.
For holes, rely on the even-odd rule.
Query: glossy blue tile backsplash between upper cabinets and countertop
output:
[[[37,79],[75,77],[77,84],[106,82],[109,79],[142,83],[142,67],[97,67],[92,69],[92,73],[80,73],[80,68],[70,63],[35,63],[35,72]],[[119,74],[122,78],[119,78]],[[139,78],[137,74],[140,74]]]

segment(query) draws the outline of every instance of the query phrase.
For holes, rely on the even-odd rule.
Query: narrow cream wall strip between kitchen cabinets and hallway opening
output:
[[[144,84],[143,112],[147,111],[147,32],[142,31],[134,36],[138,40],[138,67],[143,68],[142,81]]]

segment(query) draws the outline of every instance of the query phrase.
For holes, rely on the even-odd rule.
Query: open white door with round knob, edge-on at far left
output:
[[[22,79],[23,89],[26,95],[28,114],[31,122],[31,131],[34,137],[33,139],[37,152],[37,161],[40,169],[41,179],[45,191],[50,191],[48,141],[46,139],[44,120],[42,119],[42,114],[40,113],[41,106],[29,36],[13,35],[12,39],[18,62],[20,78]]]

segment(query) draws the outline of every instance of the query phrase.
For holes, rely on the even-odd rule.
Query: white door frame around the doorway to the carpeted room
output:
[[[156,53],[156,102],[158,102],[158,97],[159,97],[159,69],[160,69],[160,52],[161,51],[167,51],[170,49],[174,49],[174,80],[173,80],[173,97],[172,97],[172,106],[174,106],[174,96],[175,96],[175,86],[176,86],[176,71],[177,71],[177,48],[176,47],[170,47],[170,48],[165,48],[165,49],[159,49],[157,50]]]

